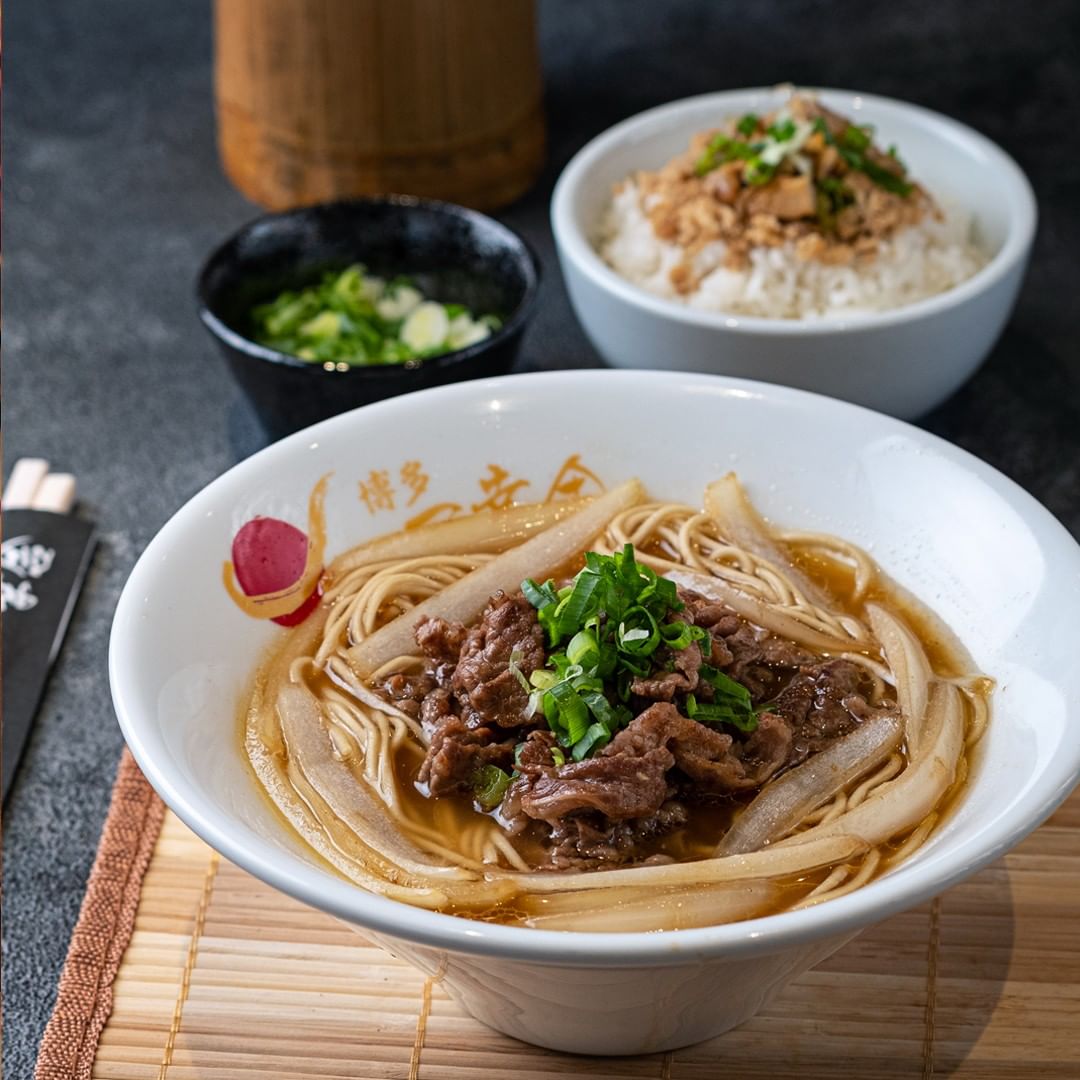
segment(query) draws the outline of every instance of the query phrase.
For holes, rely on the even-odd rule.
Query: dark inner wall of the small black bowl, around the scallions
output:
[[[538,278],[531,251],[498,221],[449,203],[390,197],[326,203],[253,221],[208,259],[199,283],[200,301],[251,340],[253,307],[354,262],[380,276],[405,274],[428,299],[463,303],[477,316],[498,315],[503,332],[524,316]]]

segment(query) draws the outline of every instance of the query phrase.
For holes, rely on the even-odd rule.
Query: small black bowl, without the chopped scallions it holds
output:
[[[497,314],[502,325],[442,356],[345,372],[255,342],[255,305],[353,262],[382,276],[407,274],[426,297]],[[528,244],[484,214],[409,195],[355,199],[268,214],[233,233],[199,275],[199,316],[268,434],[280,438],[383,397],[504,375],[517,356],[539,278]]]

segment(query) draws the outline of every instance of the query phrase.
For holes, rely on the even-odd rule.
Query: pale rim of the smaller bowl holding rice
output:
[[[805,89],[809,90],[810,87]],[[684,97],[677,102],[639,112],[613,127],[609,127],[586,143],[563,170],[552,194],[551,226],[559,253],[594,285],[612,294],[623,302],[643,308],[658,318],[716,330],[777,337],[819,336],[878,329],[936,315],[987,292],[1027,257],[1035,239],[1038,219],[1035,193],[1020,165],[1001,147],[985,135],[981,135],[973,127],[941,112],[923,108],[921,105],[912,105],[896,98],[879,97],[876,94],[864,94],[852,90],[815,87],[813,93],[820,94],[826,100],[832,98],[831,104],[834,106],[843,108],[843,102],[855,100],[859,103],[859,108],[867,105],[878,113],[891,112],[901,116],[908,121],[916,122],[928,134],[941,141],[955,143],[966,150],[982,156],[987,162],[987,167],[993,170],[999,180],[1001,195],[1009,207],[1009,232],[1001,249],[994,258],[967,281],[945,293],[939,293],[936,296],[889,311],[815,320],[767,319],[759,315],[742,315],[724,311],[703,311],[656,296],[616,273],[600,258],[590,239],[575,220],[575,204],[578,193],[595,165],[612,150],[640,137],[650,136],[666,125],[674,125],[684,113],[706,104],[714,105],[718,116],[725,116],[738,110],[740,104],[745,103],[747,98],[775,96],[778,93],[779,89],[775,86],[753,86]],[[848,108],[851,108],[850,104]]]

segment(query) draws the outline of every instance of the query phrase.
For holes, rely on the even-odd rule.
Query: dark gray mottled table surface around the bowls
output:
[[[643,108],[791,80],[918,102],[1015,156],[1041,225],[985,367],[923,426],[1080,536],[1077,8],[541,0],[550,154],[501,215],[544,265],[523,369],[594,366],[548,227],[559,168]],[[193,492],[262,445],[198,324],[200,260],[255,207],[215,151],[208,3],[50,0],[6,15],[3,402],[10,463],[78,474],[100,546],[4,821],[3,1056],[30,1075],[121,748],[106,673],[133,563]]]

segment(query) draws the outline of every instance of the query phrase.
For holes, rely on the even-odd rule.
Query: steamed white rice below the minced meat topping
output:
[[[766,319],[836,319],[900,308],[960,284],[987,261],[970,234],[970,217],[950,210],[941,220],[928,214],[882,241],[870,260],[825,266],[799,259],[788,242],[751,248],[750,266],[742,270],[724,266],[727,245],[716,241],[694,257],[698,287],[681,294],[671,272],[686,253],[656,235],[631,179],[611,201],[597,247],[622,278],[691,308]]]

